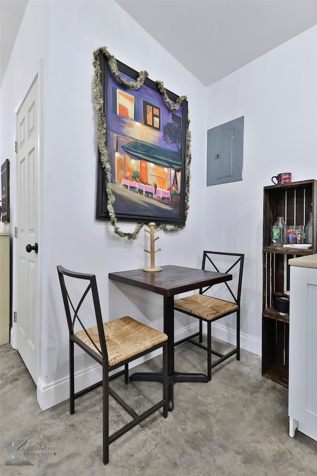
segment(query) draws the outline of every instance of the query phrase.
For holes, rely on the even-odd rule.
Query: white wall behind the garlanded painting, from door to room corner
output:
[[[40,11],[44,3],[48,8],[47,18],[43,18]],[[92,90],[94,50],[107,46],[118,60],[136,70],[147,69],[151,79],[163,80],[167,89],[188,97],[193,135],[190,210],[183,231],[159,233],[162,249],[156,255],[157,265],[200,265],[204,222],[197,217],[201,212],[204,216],[206,202],[206,190],[200,186],[205,183],[202,162],[206,157],[206,110],[202,101],[204,86],[113,1],[31,1],[20,31],[31,27],[39,36],[38,45],[42,30],[48,32],[46,49],[28,44],[27,38],[19,32],[14,55],[25,46],[37,60],[43,58],[44,69],[38,400],[45,409],[68,395],[68,329],[57,264],[97,275],[105,320],[131,313],[162,328],[162,297],[138,290],[131,293],[130,289],[108,284],[110,271],[149,264],[149,255],[144,253],[149,235],[142,230],[137,240],[119,238],[108,222],[97,222],[94,218],[97,165],[97,118]],[[10,62],[9,67],[12,72],[23,71],[16,63]],[[25,83],[30,74],[27,70]],[[3,110],[1,106],[1,114],[5,117],[9,112],[13,119],[21,91],[11,90],[7,75],[4,81],[3,91],[11,100]],[[13,125],[12,121],[11,137],[14,136]],[[5,135],[1,139],[8,149],[12,146]],[[15,163],[12,153],[10,163]],[[14,167],[12,169],[14,182]],[[13,215],[11,230],[14,226],[16,217]],[[132,231],[135,224],[122,223],[120,227]],[[183,325],[184,319],[176,323],[176,330]],[[88,360],[77,361],[79,385],[83,376],[80,371],[89,366]],[[87,376],[88,379],[95,377],[94,371]]]

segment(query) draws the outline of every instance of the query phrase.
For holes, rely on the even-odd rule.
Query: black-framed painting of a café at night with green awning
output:
[[[120,84],[100,53],[106,150],[117,220],[184,225],[188,105],[178,110],[165,103],[158,86],[147,78],[137,90]],[[122,77],[138,72],[117,61]],[[166,91],[176,103],[178,96]],[[105,171],[98,150],[96,218],[110,220]]]

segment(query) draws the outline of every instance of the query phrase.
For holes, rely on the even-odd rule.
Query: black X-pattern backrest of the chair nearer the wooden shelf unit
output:
[[[208,268],[211,271],[232,274],[232,281],[226,281],[225,283],[221,283],[221,285],[226,286],[235,303],[240,305],[243,264],[244,254],[242,253],[225,253],[221,251],[205,250],[203,254],[202,269],[206,269],[208,265]],[[234,279],[234,271],[237,274],[237,279]],[[211,289],[211,286],[208,286],[207,288],[201,288],[199,292],[200,294],[204,294],[209,289]]]

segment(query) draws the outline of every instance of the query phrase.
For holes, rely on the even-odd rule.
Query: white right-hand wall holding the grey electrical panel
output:
[[[244,116],[243,180],[207,187],[205,246],[245,253],[241,340],[257,354],[263,187],[281,172],[293,181],[317,179],[316,58],[317,26],[207,88],[207,130]]]

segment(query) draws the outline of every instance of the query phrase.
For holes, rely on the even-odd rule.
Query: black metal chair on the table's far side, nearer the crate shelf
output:
[[[219,263],[222,264],[222,266],[225,266],[225,268],[220,268]],[[207,269],[207,265],[209,265],[208,269],[211,271],[231,273],[233,275],[232,281],[220,283],[217,285],[226,286],[225,289],[229,291],[232,297],[232,301],[206,295],[205,293],[211,289],[211,286],[204,289],[200,289],[199,294],[183,297],[181,299],[175,299],[174,301],[175,310],[193,317],[197,317],[199,319],[199,332],[176,342],[174,345],[178,346],[184,342],[190,342],[195,346],[205,349],[207,351],[207,373],[209,380],[211,380],[211,369],[216,365],[219,365],[219,363],[223,362],[223,360],[226,360],[234,354],[237,355],[237,360],[240,360],[240,298],[242,287],[243,263],[244,254],[204,251],[202,269]],[[234,276],[234,272],[236,272],[236,277]],[[223,355],[211,349],[211,323],[232,313],[236,313],[236,347],[234,350]],[[202,344],[203,321],[207,322],[207,347]],[[194,340],[196,337],[199,337],[199,342],[197,342],[197,339]],[[219,357],[213,363],[211,363],[211,354]]]

